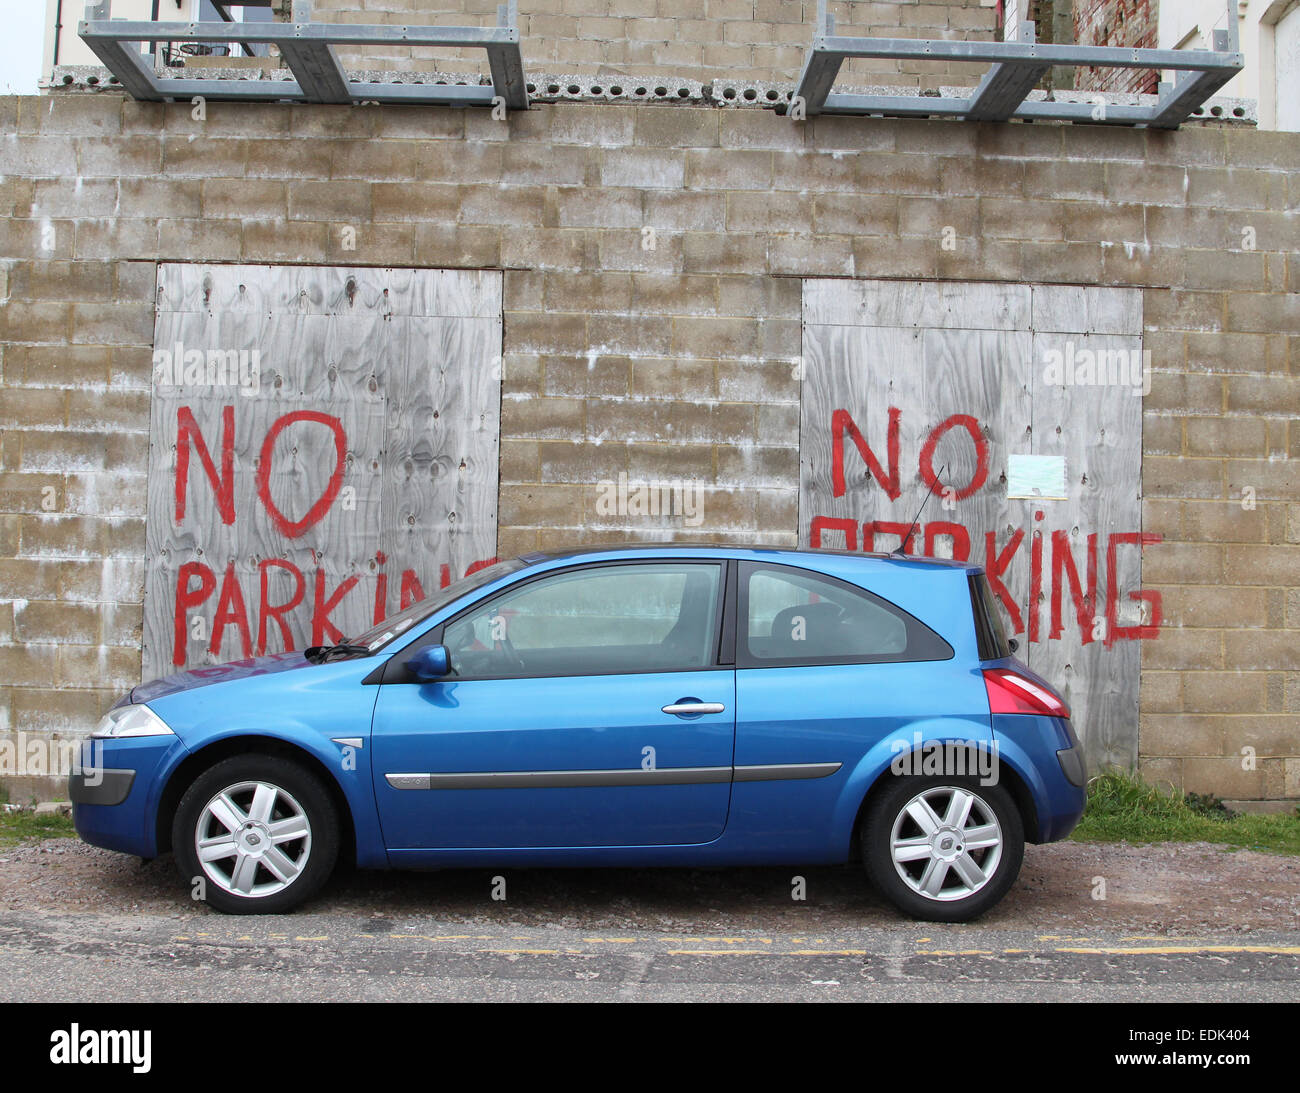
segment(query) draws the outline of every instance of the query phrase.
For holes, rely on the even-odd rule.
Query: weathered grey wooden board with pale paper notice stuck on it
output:
[[[910,552],[984,564],[1019,656],[1065,689],[1089,762],[1131,763],[1140,658],[1123,628],[1144,621],[1130,541],[1141,529],[1141,399],[1131,372],[1098,383],[1083,368],[1050,370],[1049,354],[1071,369],[1084,354],[1140,361],[1141,294],[806,281],[803,299],[801,543],[893,550],[930,493]],[[1065,499],[1009,496],[1011,455],[1062,457]]]

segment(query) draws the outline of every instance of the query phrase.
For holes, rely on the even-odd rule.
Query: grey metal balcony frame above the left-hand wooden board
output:
[[[203,95],[228,100],[298,103],[419,103],[491,105],[498,96],[512,110],[528,109],[528,82],[519,48],[517,0],[497,8],[495,27],[354,26],[312,21],[311,0],[294,0],[292,22],[152,22],[112,18],[112,0],[91,0],[78,27],[81,39],[134,99],[165,101]],[[234,42],[276,45],[292,79],[172,78],[153,71],[135,47],[144,42]],[[488,53],[491,86],[439,83],[354,83],[335,45],[477,48]]]

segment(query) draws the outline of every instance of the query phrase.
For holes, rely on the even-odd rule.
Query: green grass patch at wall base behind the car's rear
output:
[[[1080,842],[1218,842],[1300,854],[1300,810],[1232,814],[1214,797],[1165,793],[1124,771],[1088,782],[1088,808],[1070,836]]]

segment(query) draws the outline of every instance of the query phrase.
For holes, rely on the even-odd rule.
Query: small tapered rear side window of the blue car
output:
[[[740,608],[742,662],[750,667],[953,655],[948,642],[906,611],[806,569],[745,567]]]

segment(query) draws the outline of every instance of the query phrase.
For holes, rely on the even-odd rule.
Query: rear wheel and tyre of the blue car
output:
[[[928,921],[978,919],[1008,893],[1024,859],[1024,824],[1011,795],[963,776],[892,778],[867,807],[861,836],[872,884]]]

